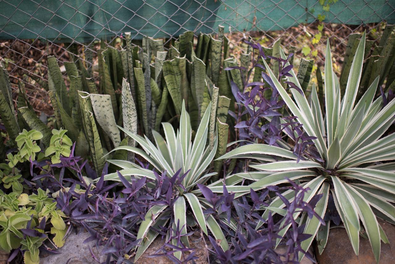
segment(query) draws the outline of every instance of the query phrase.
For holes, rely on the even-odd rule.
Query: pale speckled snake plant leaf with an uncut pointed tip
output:
[[[124,78],[122,81],[122,119],[124,128],[134,134],[137,134],[137,111],[130,92],[130,85]],[[129,139],[128,146],[135,146],[134,139]],[[128,160],[134,161],[134,153],[128,154]]]

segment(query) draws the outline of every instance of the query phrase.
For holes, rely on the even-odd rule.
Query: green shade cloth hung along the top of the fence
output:
[[[313,0],[2,0],[0,39],[90,42],[122,32],[132,37],[178,36],[186,30],[211,33],[285,30],[324,22],[360,25],[395,23],[395,0],[338,0],[323,11]]]

